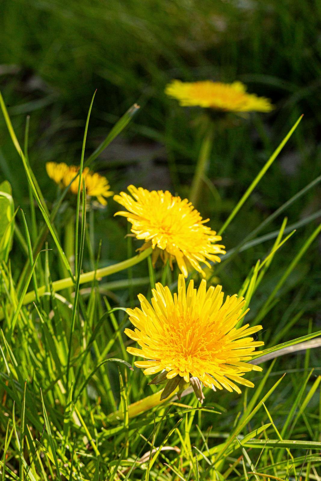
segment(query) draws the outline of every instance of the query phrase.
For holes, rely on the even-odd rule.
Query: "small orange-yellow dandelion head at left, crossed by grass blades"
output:
[[[76,165],[66,165],[64,163],[56,164],[55,162],[48,162],[46,170],[51,179],[62,187],[67,187],[72,179],[77,175],[79,167]],[[90,197],[97,197],[98,202],[103,205],[107,204],[106,198],[114,195],[110,190],[110,186],[106,177],[97,173],[91,172],[88,167],[85,167],[82,172],[82,178],[85,179],[86,193]],[[73,194],[78,193],[79,178],[77,177],[70,185],[70,190]],[[82,190],[82,183],[80,184]]]

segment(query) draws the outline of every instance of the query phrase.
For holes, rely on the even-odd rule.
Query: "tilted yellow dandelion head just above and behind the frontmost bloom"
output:
[[[218,254],[225,254],[224,246],[215,242],[220,241],[221,236],[204,225],[209,219],[203,220],[187,199],[181,200],[167,190],[149,191],[133,185],[128,190],[132,197],[126,192],[114,196],[128,212],[115,215],[127,217],[132,224],[131,232],[145,241],[141,249],[152,246],[154,262],[161,254],[163,261],[168,260],[172,267],[176,259],[185,277],[187,264],[204,275],[200,263],[210,267],[208,261],[220,262]]]

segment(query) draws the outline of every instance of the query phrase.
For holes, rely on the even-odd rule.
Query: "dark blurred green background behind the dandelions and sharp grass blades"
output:
[[[216,230],[299,115],[304,119],[226,230],[224,243],[228,250],[234,247],[320,175],[320,20],[318,0],[2,0],[0,88],[21,142],[30,115],[30,163],[49,205],[56,198],[56,186],[47,177],[45,163],[79,163],[95,89],[87,155],[134,102],[141,106],[95,163],[112,190],[134,183],[186,196],[200,148],[202,113],[181,108],[165,96],[164,88],[172,78],[237,79],[250,92],[269,97],[276,108],[271,114],[251,114],[215,136],[210,182],[198,208]],[[2,116],[0,127],[1,179],[11,182],[15,203],[24,207],[28,218],[25,173]],[[318,212],[320,193],[317,186],[287,209],[288,225]],[[107,212],[95,212],[96,252],[103,239],[101,265],[127,257],[127,225],[113,219],[116,210],[110,200]],[[256,295],[260,304],[316,222],[299,228],[275,257]],[[262,234],[281,223],[277,218]],[[240,253],[219,271],[226,292],[239,290],[272,242]],[[287,280],[281,301],[266,319],[268,329],[277,329],[280,318],[286,322],[284,313],[301,309],[298,335],[307,332],[310,318],[320,325],[320,250],[320,241],[314,242]],[[13,255],[17,276],[24,262],[19,247]],[[138,275],[146,275],[144,269],[138,266]],[[126,294],[122,296],[126,303]],[[256,299],[250,316],[255,316]]]

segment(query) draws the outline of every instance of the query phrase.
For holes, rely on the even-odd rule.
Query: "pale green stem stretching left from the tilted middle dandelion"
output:
[[[106,276],[110,276],[111,274],[115,274],[116,272],[120,272],[122,270],[128,269],[129,267],[135,266],[136,264],[139,264],[142,260],[146,259],[146,257],[148,257],[151,253],[152,253],[152,248],[149,247],[148,249],[145,249],[141,253],[134,255],[134,257],[131,257],[126,261],[118,262],[117,264],[114,264],[112,266],[102,267],[101,269],[97,269],[96,271],[91,271],[91,272],[86,272],[85,274],[81,274],[79,284],[85,284],[86,282],[91,282],[94,278],[99,279]],[[67,289],[68,287],[72,287],[72,286],[74,286],[74,282],[70,277],[52,282],[52,288],[53,288],[53,291],[55,292],[61,291],[62,289]],[[45,291],[46,291],[45,286],[39,287],[38,288],[39,296],[43,296]],[[35,291],[28,292],[25,295],[25,298],[22,304],[29,304],[35,301],[35,299],[36,299]],[[1,315],[0,315],[0,318],[1,318]]]

